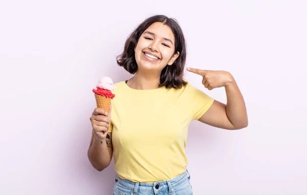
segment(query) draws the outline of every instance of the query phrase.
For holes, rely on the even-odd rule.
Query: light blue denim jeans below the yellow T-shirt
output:
[[[138,183],[116,176],[113,195],[192,195],[190,176],[185,171],[180,176],[155,183]]]

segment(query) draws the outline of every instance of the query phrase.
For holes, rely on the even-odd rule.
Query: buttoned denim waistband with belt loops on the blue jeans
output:
[[[166,181],[158,181],[155,183],[139,183],[133,182],[130,180],[121,179],[120,177],[116,176],[115,181],[117,184],[125,187],[127,189],[133,190],[134,193],[138,191],[143,192],[153,192],[158,193],[160,191],[168,190],[169,193],[172,192],[173,188],[176,188],[190,179],[188,171],[184,171],[183,174],[180,176],[173,178],[171,180]]]

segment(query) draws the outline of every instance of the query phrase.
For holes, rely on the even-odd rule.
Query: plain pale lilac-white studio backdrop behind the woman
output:
[[[233,74],[248,109],[239,131],[191,123],[194,194],[307,194],[307,3],[161,0],[0,3],[0,194],[112,193],[114,161],[87,159],[92,89],[132,76],[115,57],[154,14],[179,21],[187,67]]]

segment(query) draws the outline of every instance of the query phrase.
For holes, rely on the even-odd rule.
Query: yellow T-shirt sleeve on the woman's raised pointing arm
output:
[[[189,83],[187,87],[193,120],[199,120],[209,110],[214,99]]]

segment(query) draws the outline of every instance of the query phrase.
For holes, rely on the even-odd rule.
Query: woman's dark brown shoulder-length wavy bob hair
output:
[[[184,66],[186,61],[186,42],[183,32],[174,18],[168,18],[165,15],[155,15],[145,19],[127,38],[124,51],[121,55],[117,56],[117,64],[124,67],[130,74],[135,74],[138,70],[138,65],[135,58],[134,48],[137,45],[141,34],[152,24],[160,21],[167,25],[172,30],[175,37],[175,51],[174,54],[179,52],[179,57],[174,61],[171,66],[166,66],[160,76],[159,86],[166,88],[180,89],[182,85],[187,82],[183,79]]]

